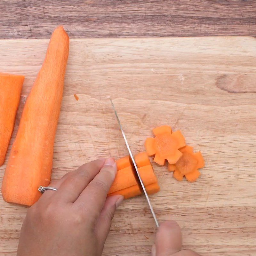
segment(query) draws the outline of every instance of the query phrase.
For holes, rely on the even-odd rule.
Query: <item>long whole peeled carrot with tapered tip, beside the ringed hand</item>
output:
[[[4,173],[2,195],[6,202],[30,206],[40,197],[38,187],[50,183],[68,49],[69,37],[59,26],[22,112]]]

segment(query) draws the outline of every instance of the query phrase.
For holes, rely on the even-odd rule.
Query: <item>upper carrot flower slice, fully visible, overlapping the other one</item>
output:
[[[155,138],[147,138],[145,148],[148,156],[155,155],[154,161],[164,165],[165,160],[169,164],[176,164],[182,156],[179,148],[186,146],[185,138],[180,131],[172,132],[168,125],[156,127],[153,130]]]

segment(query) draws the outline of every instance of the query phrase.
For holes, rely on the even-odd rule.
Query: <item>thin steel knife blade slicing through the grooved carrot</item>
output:
[[[148,197],[148,193],[147,193],[146,188],[145,188],[145,186],[144,186],[144,184],[143,184],[143,181],[142,181],[142,179],[141,179],[141,177],[140,177],[140,173],[139,173],[139,171],[138,171],[137,164],[136,164],[136,162],[135,162],[135,160],[134,160],[134,158],[133,158],[133,156],[132,156],[132,151],[131,151],[131,149],[130,149],[130,146],[129,146],[129,143],[128,143],[127,139],[126,139],[126,136],[125,136],[125,134],[124,134],[124,130],[123,130],[122,124],[121,124],[121,122],[120,122],[120,119],[119,119],[119,117],[118,117],[118,115],[117,115],[116,108],[115,108],[115,106],[114,106],[114,103],[113,103],[112,99],[111,99],[111,98],[109,98],[109,99],[110,99],[111,104],[112,104],[112,107],[113,107],[113,109],[114,109],[114,111],[115,111],[116,119],[117,119],[117,122],[118,122],[118,124],[119,124],[120,130],[121,130],[121,132],[122,132],[122,134],[123,134],[123,138],[124,138],[126,147],[127,147],[128,151],[129,151],[130,157],[131,157],[131,159],[132,159],[133,166],[134,166],[134,168],[135,168],[135,170],[136,170],[136,173],[137,173],[137,176],[138,176],[138,178],[139,178],[139,180],[140,180],[140,185],[141,185],[141,187],[142,187],[142,189],[143,189],[143,192],[144,192],[144,195],[146,196],[146,199],[147,199],[147,201],[148,201],[148,206],[149,206],[150,211],[151,211],[151,213],[152,213],[152,215],[153,215],[153,218],[154,218],[154,220],[155,220],[155,222],[156,222],[156,227],[158,228],[158,227],[159,227],[159,224],[158,224],[158,221],[157,221],[157,219],[156,219],[156,214],[155,214],[155,212],[154,212],[154,210],[153,210],[153,207],[152,207],[152,205],[151,205],[151,203],[150,203],[150,200],[149,200],[149,197]]]

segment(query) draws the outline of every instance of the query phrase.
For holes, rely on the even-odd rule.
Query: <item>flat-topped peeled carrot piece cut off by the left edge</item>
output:
[[[0,166],[12,136],[24,76],[0,73]]]

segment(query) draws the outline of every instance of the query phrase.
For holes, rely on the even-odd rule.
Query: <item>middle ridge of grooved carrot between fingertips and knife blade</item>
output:
[[[124,188],[129,188],[134,185],[138,185],[134,177],[132,166],[125,167],[117,171],[116,178],[110,187],[108,194],[122,190]]]

